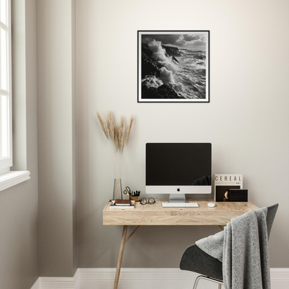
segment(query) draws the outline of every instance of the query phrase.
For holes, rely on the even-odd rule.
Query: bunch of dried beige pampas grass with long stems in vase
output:
[[[117,199],[119,198],[119,179],[122,177],[122,165],[124,162],[124,145],[129,140],[129,135],[131,133],[131,126],[133,125],[134,117],[131,115],[129,126],[127,129],[124,124],[124,116],[120,118],[119,127],[115,124],[113,118],[113,112],[108,111],[108,124],[104,120],[104,117],[101,117],[97,111],[97,118],[101,125],[101,129],[104,131],[106,138],[108,139],[110,146],[110,153],[113,159],[113,170],[115,172],[115,179],[117,179]],[[110,138],[109,138],[110,136]]]

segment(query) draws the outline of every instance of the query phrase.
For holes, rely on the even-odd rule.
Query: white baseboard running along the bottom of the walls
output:
[[[271,288],[289,288],[289,268],[271,268]],[[119,289],[192,288],[199,274],[179,268],[122,268]],[[40,277],[31,289],[110,289],[115,268],[79,268],[73,277]],[[199,289],[215,289],[215,283],[199,281]]]

